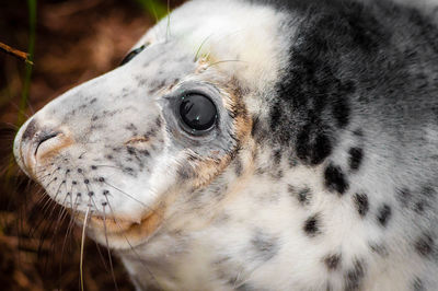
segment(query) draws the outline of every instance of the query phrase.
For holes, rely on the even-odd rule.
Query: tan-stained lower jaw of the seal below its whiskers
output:
[[[72,214],[79,224],[84,224],[84,213]],[[164,207],[149,211],[139,221],[92,213],[87,221],[87,230],[96,241],[111,248],[128,248],[148,241],[162,224],[163,214]]]

